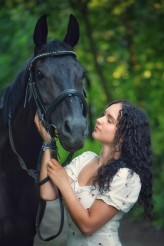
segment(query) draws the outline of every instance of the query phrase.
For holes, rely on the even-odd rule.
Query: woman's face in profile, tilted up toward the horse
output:
[[[117,130],[118,115],[121,109],[121,103],[116,103],[105,110],[104,115],[96,121],[96,126],[92,133],[94,139],[98,140],[103,145],[113,146]]]

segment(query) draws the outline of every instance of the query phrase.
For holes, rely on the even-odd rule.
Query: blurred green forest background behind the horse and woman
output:
[[[146,239],[129,245],[164,245],[164,241],[156,244],[156,239],[164,239],[164,1],[0,0],[0,6],[0,89],[16,78],[33,54],[37,19],[47,14],[48,39],[62,40],[72,13],[80,24],[75,51],[87,70],[90,133],[95,119],[112,100],[127,99],[146,111],[152,133],[154,220],[145,221],[143,211],[136,206],[122,228],[128,225],[134,228],[134,235],[142,231],[147,238],[154,238],[149,243]],[[88,149],[100,150],[90,135],[79,152]],[[121,233],[123,237],[133,234]]]

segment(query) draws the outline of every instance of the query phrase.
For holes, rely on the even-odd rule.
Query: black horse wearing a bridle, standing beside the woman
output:
[[[63,41],[47,43],[46,16],[36,23],[34,55],[0,100],[0,245],[32,246],[39,189],[35,170],[42,139],[36,111],[68,151],[83,146],[87,132],[84,68],[72,51],[79,25],[70,15]]]

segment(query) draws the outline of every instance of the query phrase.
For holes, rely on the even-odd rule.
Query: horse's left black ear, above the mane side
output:
[[[43,15],[38,19],[34,29],[33,40],[36,48],[47,43],[47,35],[47,15]]]

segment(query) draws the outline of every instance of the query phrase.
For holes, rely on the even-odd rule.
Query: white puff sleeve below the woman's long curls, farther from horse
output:
[[[139,176],[128,168],[120,168],[110,183],[109,191],[98,194],[97,199],[127,213],[136,203],[140,189]]]

